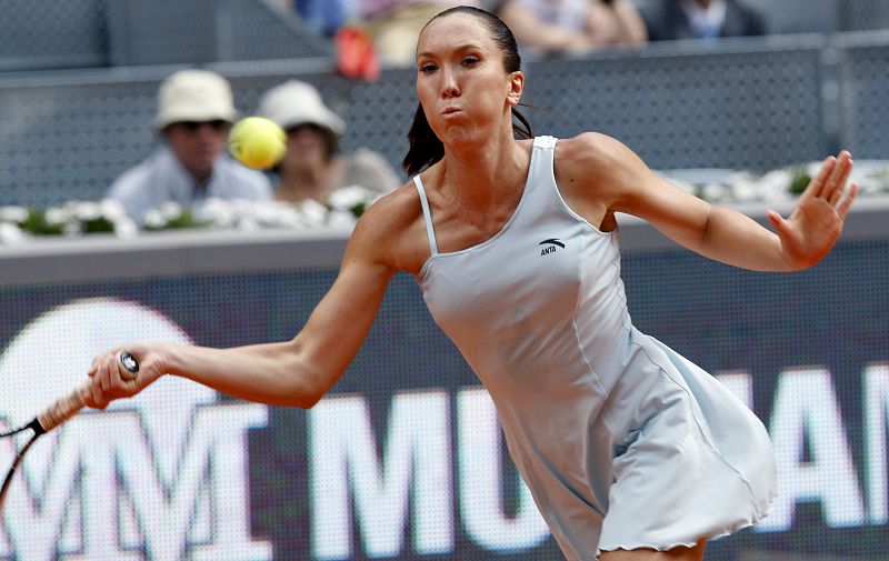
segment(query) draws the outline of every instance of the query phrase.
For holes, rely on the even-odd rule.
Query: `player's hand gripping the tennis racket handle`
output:
[[[121,363],[121,352],[127,351],[136,358],[139,370],[133,372]],[[120,398],[131,398],[167,373],[169,349],[163,343],[136,343],[110,349],[96,357],[89,370],[92,380],[90,394],[86,397],[87,407],[104,409]]]

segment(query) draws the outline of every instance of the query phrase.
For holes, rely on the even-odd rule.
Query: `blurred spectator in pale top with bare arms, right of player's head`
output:
[[[506,0],[498,14],[520,47],[546,53],[639,44],[647,38],[631,0]]]

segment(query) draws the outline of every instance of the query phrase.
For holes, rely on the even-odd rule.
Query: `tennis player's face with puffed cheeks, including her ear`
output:
[[[420,33],[417,94],[444,144],[489,139],[505,122],[511,129],[516,88],[520,93],[521,73],[505,70],[503,53],[478,18],[444,16]]]

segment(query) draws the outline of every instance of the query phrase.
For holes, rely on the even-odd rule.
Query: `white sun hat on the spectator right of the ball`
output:
[[[267,91],[259,100],[257,112],[288,130],[298,124],[317,124],[337,136],[346,132],[346,122],[324,106],[313,86],[288,80]]]

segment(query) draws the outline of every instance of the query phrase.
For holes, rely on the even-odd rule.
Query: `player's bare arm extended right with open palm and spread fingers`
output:
[[[740,212],[673,186],[612,138],[587,133],[566,148],[566,158],[559,161],[580,183],[571,192],[593,214],[595,209],[603,218],[613,212],[633,214],[701,256],[743,269],[790,271],[817,263],[839,237],[856,193],[852,186],[842,199],[851,169],[848,153],[827,159],[788,221],[769,214],[776,234]]]

